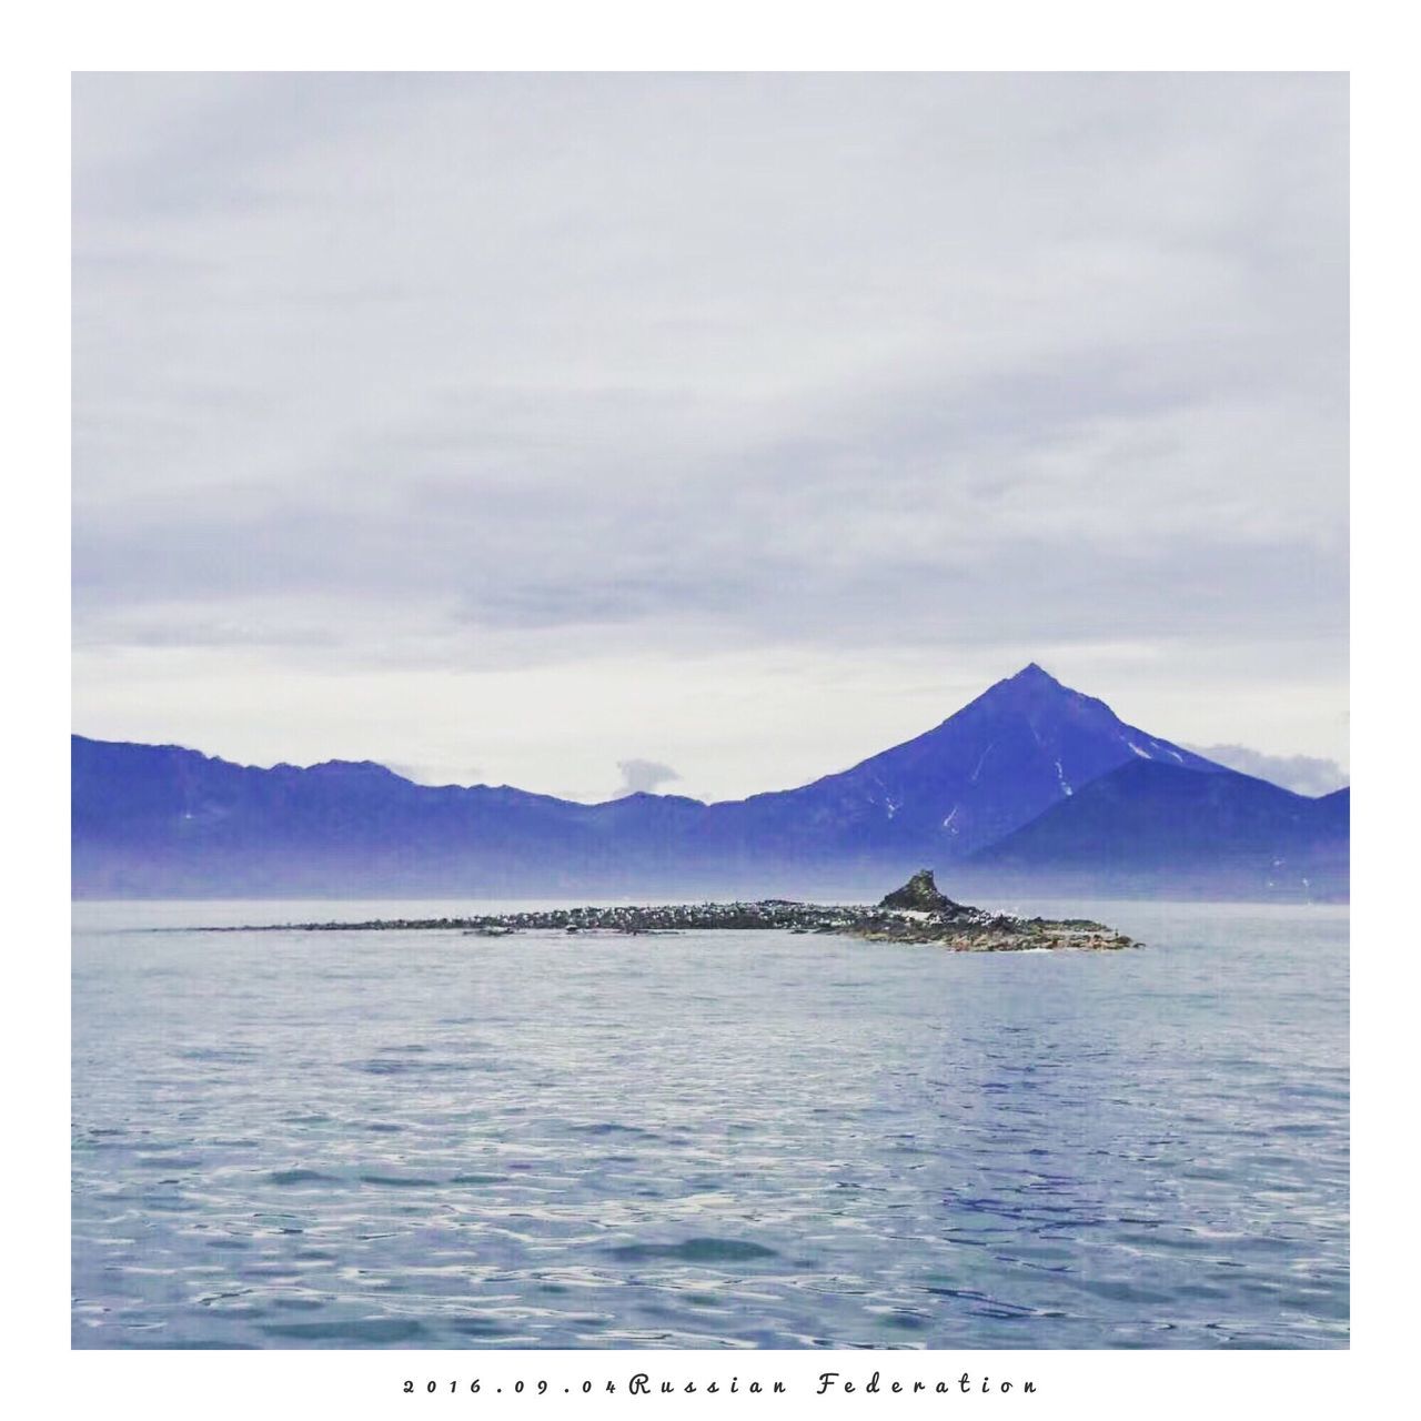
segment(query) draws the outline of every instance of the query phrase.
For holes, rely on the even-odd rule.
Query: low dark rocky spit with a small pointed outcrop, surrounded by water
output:
[[[1118,952],[1140,946],[1123,932],[1087,918],[1020,918],[953,902],[938,891],[932,871],[926,868],[872,907],[764,898],[757,902],[539,908],[475,918],[371,918],[365,922],[290,922],[280,928],[210,931],[459,931],[470,936],[504,938],[516,932],[645,935],[718,929],[837,934],[867,942],[912,942],[952,952],[1036,952],[1066,948]]]

